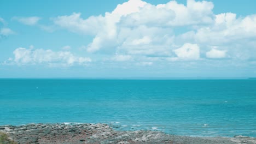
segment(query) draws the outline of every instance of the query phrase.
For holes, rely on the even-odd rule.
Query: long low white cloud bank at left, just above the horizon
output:
[[[14,58],[9,58],[5,63],[71,66],[74,64],[84,65],[91,62],[90,58],[78,57],[69,51],[55,52],[52,50],[33,49],[33,47],[30,49],[19,47],[14,50],[13,54]]]

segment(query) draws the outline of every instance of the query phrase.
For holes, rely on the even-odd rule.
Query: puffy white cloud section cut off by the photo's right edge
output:
[[[218,14],[212,24],[197,29],[194,38],[198,43],[223,45],[256,38],[256,15]]]

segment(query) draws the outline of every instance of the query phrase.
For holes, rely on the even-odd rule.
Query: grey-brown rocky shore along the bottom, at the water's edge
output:
[[[9,135],[16,143],[256,143],[256,138],[235,137],[189,137],[168,135],[160,131],[117,131],[107,124],[27,124],[2,125],[0,132]],[[1,143],[1,142],[0,142]],[[8,143],[8,141],[2,142]],[[2,144],[1,143],[1,144]]]

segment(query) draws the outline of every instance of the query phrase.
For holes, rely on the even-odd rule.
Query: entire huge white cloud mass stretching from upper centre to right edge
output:
[[[213,8],[207,1],[154,5],[130,0],[103,15],[84,19],[81,13],[73,13],[52,20],[73,33],[92,35],[86,50],[110,53],[113,61],[256,58],[256,15],[214,14]],[[219,49],[209,49],[216,45]]]

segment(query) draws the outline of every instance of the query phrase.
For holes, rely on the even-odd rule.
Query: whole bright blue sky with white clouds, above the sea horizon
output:
[[[0,78],[256,77],[256,1],[0,1]]]

